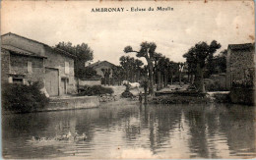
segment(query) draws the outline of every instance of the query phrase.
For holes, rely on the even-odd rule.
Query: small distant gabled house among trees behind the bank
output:
[[[102,69],[110,69],[109,78],[111,79],[113,76],[113,68],[115,68],[116,66],[107,61],[98,61],[98,62],[91,64],[87,67],[91,67],[94,70],[96,70],[96,75],[101,76],[101,78],[104,78],[104,73],[102,72]]]

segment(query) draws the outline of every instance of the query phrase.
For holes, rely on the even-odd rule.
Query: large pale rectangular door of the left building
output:
[[[57,69],[45,69],[45,87],[50,96],[59,95],[59,71]]]

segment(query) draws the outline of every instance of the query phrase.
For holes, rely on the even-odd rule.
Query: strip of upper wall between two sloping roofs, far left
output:
[[[36,55],[44,56],[43,44],[36,43],[32,40],[16,36],[14,34],[6,34],[1,37],[2,44],[12,45],[17,48],[35,53]]]

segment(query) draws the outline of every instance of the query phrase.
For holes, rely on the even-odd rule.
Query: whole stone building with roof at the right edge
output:
[[[233,80],[255,80],[255,44],[229,44],[226,57],[226,88]]]

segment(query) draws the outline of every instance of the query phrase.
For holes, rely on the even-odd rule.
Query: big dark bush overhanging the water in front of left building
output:
[[[32,85],[7,83],[2,86],[2,107],[5,111],[27,113],[43,108],[49,99],[40,92],[41,83]]]

